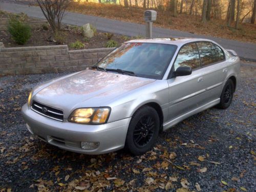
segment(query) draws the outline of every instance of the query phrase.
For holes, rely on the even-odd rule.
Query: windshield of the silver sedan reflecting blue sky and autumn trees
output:
[[[105,56],[97,67],[126,75],[162,79],[176,49],[175,45],[129,42]]]

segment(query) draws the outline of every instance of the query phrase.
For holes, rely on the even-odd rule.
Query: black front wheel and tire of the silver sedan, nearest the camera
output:
[[[149,151],[155,144],[160,129],[157,111],[143,106],[133,115],[125,140],[125,147],[134,155]]]

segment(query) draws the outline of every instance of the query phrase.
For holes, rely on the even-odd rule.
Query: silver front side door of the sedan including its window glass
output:
[[[169,108],[168,119],[172,121],[207,102],[205,89],[209,86],[202,74],[200,57],[196,43],[183,46],[174,63],[174,70],[180,66],[189,66],[192,74],[168,79]]]

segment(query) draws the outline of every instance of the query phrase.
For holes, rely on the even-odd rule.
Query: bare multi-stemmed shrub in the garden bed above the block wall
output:
[[[61,27],[62,17],[74,0],[36,0],[54,33]]]

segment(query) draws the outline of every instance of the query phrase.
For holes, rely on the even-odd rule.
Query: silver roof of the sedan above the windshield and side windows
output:
[[[185,38],[185,37],[161,37],[161,38],[142,38],[142,39],[133,39],[126,42],[150,42],[155,44],[170,44],[170,45],[177,45],[182,46],[187,44],[188,42],[194,41],[210,41],[209,39],[204,38]]]

